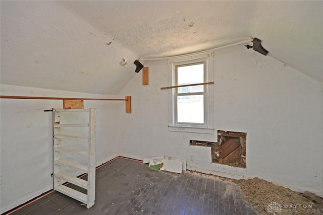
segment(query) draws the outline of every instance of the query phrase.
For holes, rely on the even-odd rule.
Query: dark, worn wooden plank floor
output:
[[[188,171],[155,172],[123,158],[96,170],[95,196],[86,209],[55,191],[12,214],[259,214],[230,182]]]

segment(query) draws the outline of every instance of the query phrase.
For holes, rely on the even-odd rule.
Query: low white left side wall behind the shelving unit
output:
[[[2,85],[1,95],[116,98],[66,91]],[[52,112],[62,100],[1,99],[1,213],[52,189]],[[96,163],[119,153],[116,133],[124,101],[84,101],[84,108],[97,108]],[[119,109],[122,110],[119,112]]]

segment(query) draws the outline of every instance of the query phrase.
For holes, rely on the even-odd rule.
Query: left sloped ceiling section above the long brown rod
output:
[[[118,94],[135,75],[138,55],[109,35],[111,28],[95,28],[65,4],[1,2],[1,84]]]

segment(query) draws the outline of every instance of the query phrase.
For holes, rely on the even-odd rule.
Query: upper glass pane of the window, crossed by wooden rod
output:
[[[177,67],[177,85],[199,84],[204,82],[204,63]],[[180,87],[178,93],[203,92],[204,86]]]

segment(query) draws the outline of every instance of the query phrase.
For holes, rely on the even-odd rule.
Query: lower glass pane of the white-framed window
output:
[[[183,123],[204,123],[204,96],[178,96],[177,121]]]

